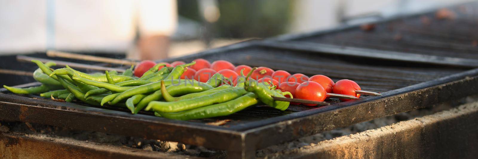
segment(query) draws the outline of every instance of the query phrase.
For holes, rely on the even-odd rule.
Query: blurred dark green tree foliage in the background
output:
[[[219,20],[213,36],[221,38],[271,37],[288,29],[290,0],[218,0]],[[178,0],[179,15],[202,22],[197,1]]]

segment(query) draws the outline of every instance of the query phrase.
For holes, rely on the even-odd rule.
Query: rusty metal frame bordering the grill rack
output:
[[[386,21],[389,20],[384,20],[383,22]],[[338,32],[353,27],[358,26],[348,26],[300,36]],[[288,37],[290,38],[291,36]],[[303,42],[290,42],[287,39],[277,38],[266,41],[242,42],[185,57],[167,59],[167,61],[196,58],[247,47],[266,46],[278,49],[360,56],[420,64],[437,64],[460,68],[478,67],[478,63],[475,64],[473,61],[456,61],[456,59],[423,55],[414,56],[413,58],[402,58],[399,56],[402,55],[400,52],[392,53],[396,56],[382,56],[382,51],[372,49],[326,44],[313,46]],[[358,54],[363,53],[363,51],[370,51],[370,53]],[[20,87],[32,85],[38,85],[38,83],[20,85]],[[259,148],[265,148],[338,127],[345,127],[379,117],[431,106],[447,100],[459,99],[467,95],[478,94],[478,68],[384,92],[382,93],[383,96],[366,96],[354,101],[336,103],[331,106],[230,127],[210,126],[203,123],[171,120],[142,114],[131,115],[125,111],[36,99],[29,95],[12,95],[6,93],[6,90],[3,88],[0,92],[0,119],[2,120],[32,122],[126,136],[177,141],[206,148],[228,150],[230,157],[253,158],[255,151]]]

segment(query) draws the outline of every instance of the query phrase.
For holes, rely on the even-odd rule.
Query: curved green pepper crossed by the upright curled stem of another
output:
[[[166,81],[164,81],[164,82],[166,82]],[[167,92],[170,95],[174,95],[174,96],[175,95],[186,95],[186,94],[190,94],[190,93],[203,92],[203,91],[213,89],[212,86],[206,85],[204,83],[199,83],[197,81],[191,83],[191,82],[186,82],[185,80],[183,80],[183,83],[181,83],[180,85],[181,86],[179,86],[178,84],[174,84],[174,85],[169,85],[168,86],[165,83],[164,86],[166,86]],[[187,87],[189,87],[189,88],[187,88]],[[138,103],[136,105],[136,107],[134,108],[134,114],[138,113],[144,107],[148,106],[148,104],[151,101],[161,100],[161,99],[163,99],[163,95],[161,94],[161,89],[160,89],[160,90],[155,91],[153,94],[148,95],[148,96],[144,97],[143,99],[141,99],[140,103]]]

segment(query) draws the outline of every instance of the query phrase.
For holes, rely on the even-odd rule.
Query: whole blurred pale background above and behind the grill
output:
[[[0,0],[0,55],[61,50],[158,60],[469,0]]]

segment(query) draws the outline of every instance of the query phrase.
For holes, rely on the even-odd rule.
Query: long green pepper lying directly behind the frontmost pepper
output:
[[[160,112],[179,112],[189,109],[194,109],[202,106],[209,106],[216,103],[223,103],[229,100],[238,98],[246,94],[247,91],[241,87],[228,88],[226,90],[216,92],[210,95],[204,95],[196,98],[175,101],[175,102],[160,102],[152,101],[148,104],[145,110],[153,109]]]

